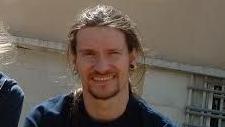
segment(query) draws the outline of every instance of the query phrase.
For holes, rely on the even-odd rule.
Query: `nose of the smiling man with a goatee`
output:
[[[105,57],[100,57],[95,63],[94,69],[100,74],[105,74],[110,69],[110,63]]]

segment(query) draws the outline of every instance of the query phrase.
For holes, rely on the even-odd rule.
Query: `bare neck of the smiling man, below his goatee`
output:
[[[97,121],[107,122],[120,117],[126,110],[129,100],[129,90],[123,89],[114,97],[107,100],[94,98],[83,93],[85,109],[90,117]]]

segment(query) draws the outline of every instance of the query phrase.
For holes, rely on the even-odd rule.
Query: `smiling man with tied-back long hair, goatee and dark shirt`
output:
[[[131,91],[129,72],[143,51],[128,16],[98,5],[80,15],[69,55],[82,90],[38,105],[25,127],[172,127]]]

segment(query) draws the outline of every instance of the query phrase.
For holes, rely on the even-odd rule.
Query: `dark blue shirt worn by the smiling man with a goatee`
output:
[[[132,95],[123,115],[104,123],[88,116],[82,97],[77,103],[73,100],[74,95],[68,94],[41,103],[26,117],[24,127],[175,127]]]

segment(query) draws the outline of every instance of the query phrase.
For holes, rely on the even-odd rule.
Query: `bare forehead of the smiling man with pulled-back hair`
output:
[[[111,27],[87,27],[77,33],[77,49],[127,48],[124,33]]]

